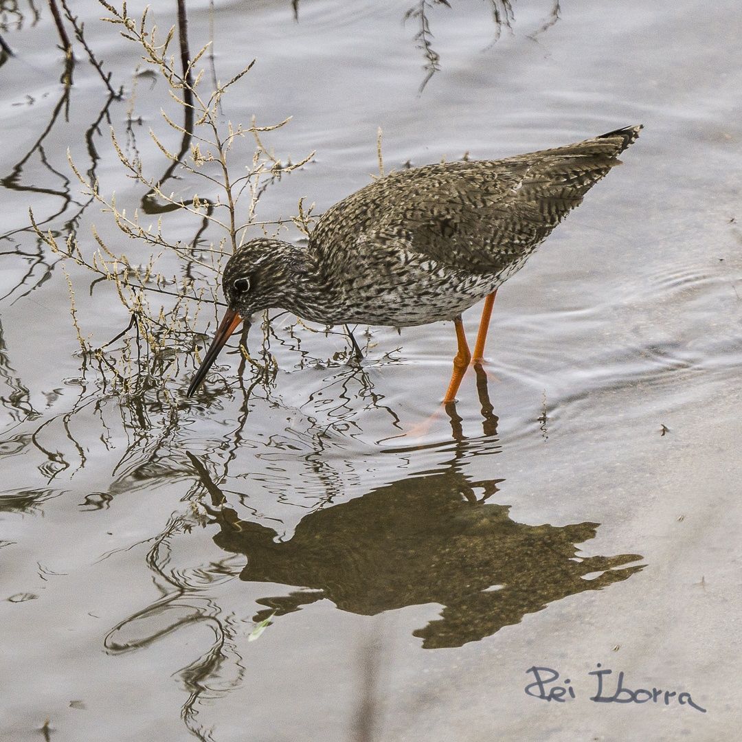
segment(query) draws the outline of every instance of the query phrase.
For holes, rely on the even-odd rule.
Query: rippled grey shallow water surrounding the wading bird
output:
[[[317,152],[266,191],[260,218],[367,183],[378,127],[387,169],[646,128],[500,290],[488,401],[471,374],[455,416],[395,437],[444,390],[454,339],[440,324],[372,329],[363,373],[286,343],[270,393],[245,407],[233,383],[172,421],[82,378],[61,266],[28,229],[32,206],[91,249],[92,223],[115,237],[66,153],[136,207],[108,136],[130,103],[108,102],[84,59],[65,95],[47,7],[3,4],[16,56],[0,66],[2,738],[733,738],[742,9],[426,4],[439,69],[419,92],[420,19],[403,22],[419,4],[214,5],[188,4],[191,47],[213,27],[220,79],[257,59],[225,116],[293,116],[271,144]],[[137,48],[96,3],[74,10],[131,91]],[[173,22],[169,4],[154,11]],[[132,131],[156,169],[147,129],[162,133],[167,105],[140,76]],[[111,295],[78,293],[84,332],[125,325]],[[301,347],[327,359],[343,342],[306,333]],[[228,382],[234,358],[220,359]],[[594,703],[597,663],[707,713]],[[526,695],[533,665],[577,698]]]

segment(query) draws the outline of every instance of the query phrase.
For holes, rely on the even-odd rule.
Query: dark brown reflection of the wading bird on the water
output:
[[[496,417],[485,417],[493,424]],[[439,603],[440,619],[413,633],[426,648],[455,647],[642,569],[624,566],[637,554],[579,557],[577,545],[594,538],[597,523],[528,525],[511,519],[508,505],[488,502],[503,480],[474,481],[462,465],[484,453],[483,441],[492,445],[489,436],[459,438],[444,464],[309,513],[283,542],[272,528],[239,519],[203,464],[191,461],[211,493],[209,510],[220,525],[214,542],[247,557],[240,579],[300,588],[258,600],[265,609],[256,621],[324,598],[367,616]]]

